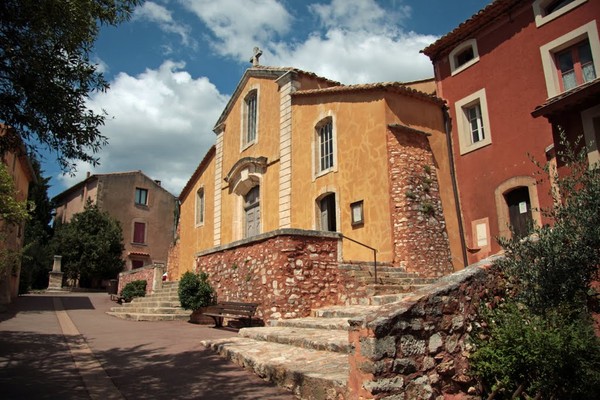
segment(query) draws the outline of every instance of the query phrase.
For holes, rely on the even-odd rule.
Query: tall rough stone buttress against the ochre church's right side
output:
[[[388,131],[394,264],[435,278],[453,271],[435,160],[427,136]]]

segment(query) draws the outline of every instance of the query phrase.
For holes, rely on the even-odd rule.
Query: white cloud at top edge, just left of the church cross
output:
[[[255,46],[266,47],[291,28],[292,17],[276,0],[181,0],[212,32],[217,54],[246,62]]]

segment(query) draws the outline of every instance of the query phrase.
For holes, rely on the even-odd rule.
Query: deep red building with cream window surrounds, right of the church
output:
[[[500,251],[511,226],[546,222],[550,184],[530,158],[554,162],[558,125],[585,134],[598,161],[599,19],[598,0],[496,0],[423,50],[448,102],[471,263]]]

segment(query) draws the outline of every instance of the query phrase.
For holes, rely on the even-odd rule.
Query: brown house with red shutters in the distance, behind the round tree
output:
[[[141,171],[95,174],[52,199],[56,222],[68,222],[90,199],[123,229],[125,269],[166,263],[173,242],[176,199]]]

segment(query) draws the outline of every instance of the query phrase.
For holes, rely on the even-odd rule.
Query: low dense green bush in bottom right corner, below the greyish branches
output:
[[[485,320],[470,365],[488,392],[498,390],[494,399],[512,398],[520,385],[542,399],[598,399],[600,339],[587,315],[540,316],[508,302]]]

